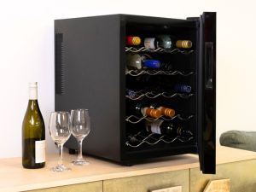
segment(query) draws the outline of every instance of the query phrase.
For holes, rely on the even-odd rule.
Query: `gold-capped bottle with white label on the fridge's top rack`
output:
[[[175,46],[177,48],[189,49],[192,47],[192,42],[186,39],[177,39],[169,35],[158,35],[155,38],[144,38],[144,47],[148,49],[172,49]]]

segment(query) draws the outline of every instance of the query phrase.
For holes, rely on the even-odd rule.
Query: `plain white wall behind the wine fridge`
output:
[[[47,150],[55,152],[48,131],[49,112],[54,110],[54,20],[88,15],[123,13],[184,19],[199,16],[203,11],[217,11],[217,137],[228,130],[255,131],[254,8],[253,0],[2,2],[0,157],[21,155],[21,123],[26,111],[29,81],[38,81]]]

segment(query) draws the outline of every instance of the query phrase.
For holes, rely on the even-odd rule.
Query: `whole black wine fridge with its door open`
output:
[[[73,108],[89,109],[85,154],[126,166],[198,154],[215,173],[216,13],[55,20],[55,110]]]

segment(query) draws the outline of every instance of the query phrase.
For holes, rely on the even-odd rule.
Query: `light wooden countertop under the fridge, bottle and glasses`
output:
[[[70,162],[76,155],[64,154],[64,164],[72,168],[68,172],[51,172],[58,154],[48,154],[43,169],[24,169],[21,158],[0,159],[0,191],[24,191],[44,189],[62,185],[88,183],[119,177],[131,177],[159,172],[169,172],[199,167],[198,156],[183,154],[143,160],[134,166],[119,166],[109,161],[87,157],[89,166],[73,166]],[[256,159],[256,153],[236,148],[217,148],[217,164]]]

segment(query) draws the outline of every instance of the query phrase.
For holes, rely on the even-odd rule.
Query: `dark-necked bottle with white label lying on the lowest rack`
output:
[[[154,121],[146,121],[146,131],[166,135],[168,137],[192,137],[192,133],[189,130],[185,130],[182,126],[172,124],[170,121],[157,119]]]

